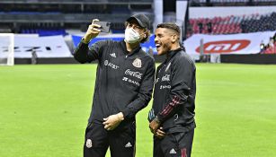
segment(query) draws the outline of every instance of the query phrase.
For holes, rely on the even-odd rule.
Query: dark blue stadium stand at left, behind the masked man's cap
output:
[[[0,30],[9,26],[14,33],[65,35],[67,29],[86,31],[87,25],[97,18],[111,22],[111,31],[121,32],[122,23],[131,13],[146,13],[153,22],[152,4],[153,0],[1,0]],[[41,25],[48,26],[41,29]]]

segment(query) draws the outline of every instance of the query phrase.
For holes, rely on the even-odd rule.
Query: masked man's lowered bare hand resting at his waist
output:
[[[111,115],[108,118],[103,118],[103,125],[106,130],[113,130],[120,125],[120,122],[124,119],[123,114],[120,112],[116,115]]]

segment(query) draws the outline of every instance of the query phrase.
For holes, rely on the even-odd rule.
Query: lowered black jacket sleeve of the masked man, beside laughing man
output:
[[[129,103],[128,107],[122,110],[124,118],[134,118],[139,110],[144,109],[151,100],[155,81],[156,64],[152,58],[148,64],[146,74],[139,88],[138,97]]]

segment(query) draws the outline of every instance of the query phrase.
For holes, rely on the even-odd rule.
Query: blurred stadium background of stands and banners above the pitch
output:
[[[274,55],[260,57],[276,53],[275,0],[1,0],[0,32],[15,34],[15,64],[31,64],[31,54],[37,64],[76,63],[71,54],[93,19],[111,22],[111,32],[91,44],[123,39],[124,22],[134,13],[149,17],[152,34],[158,23],[177,23],[196,62],[276,63]],[[8,50],[0,46],[3,57]],[[142,48],[156,55],[153,35]]]

